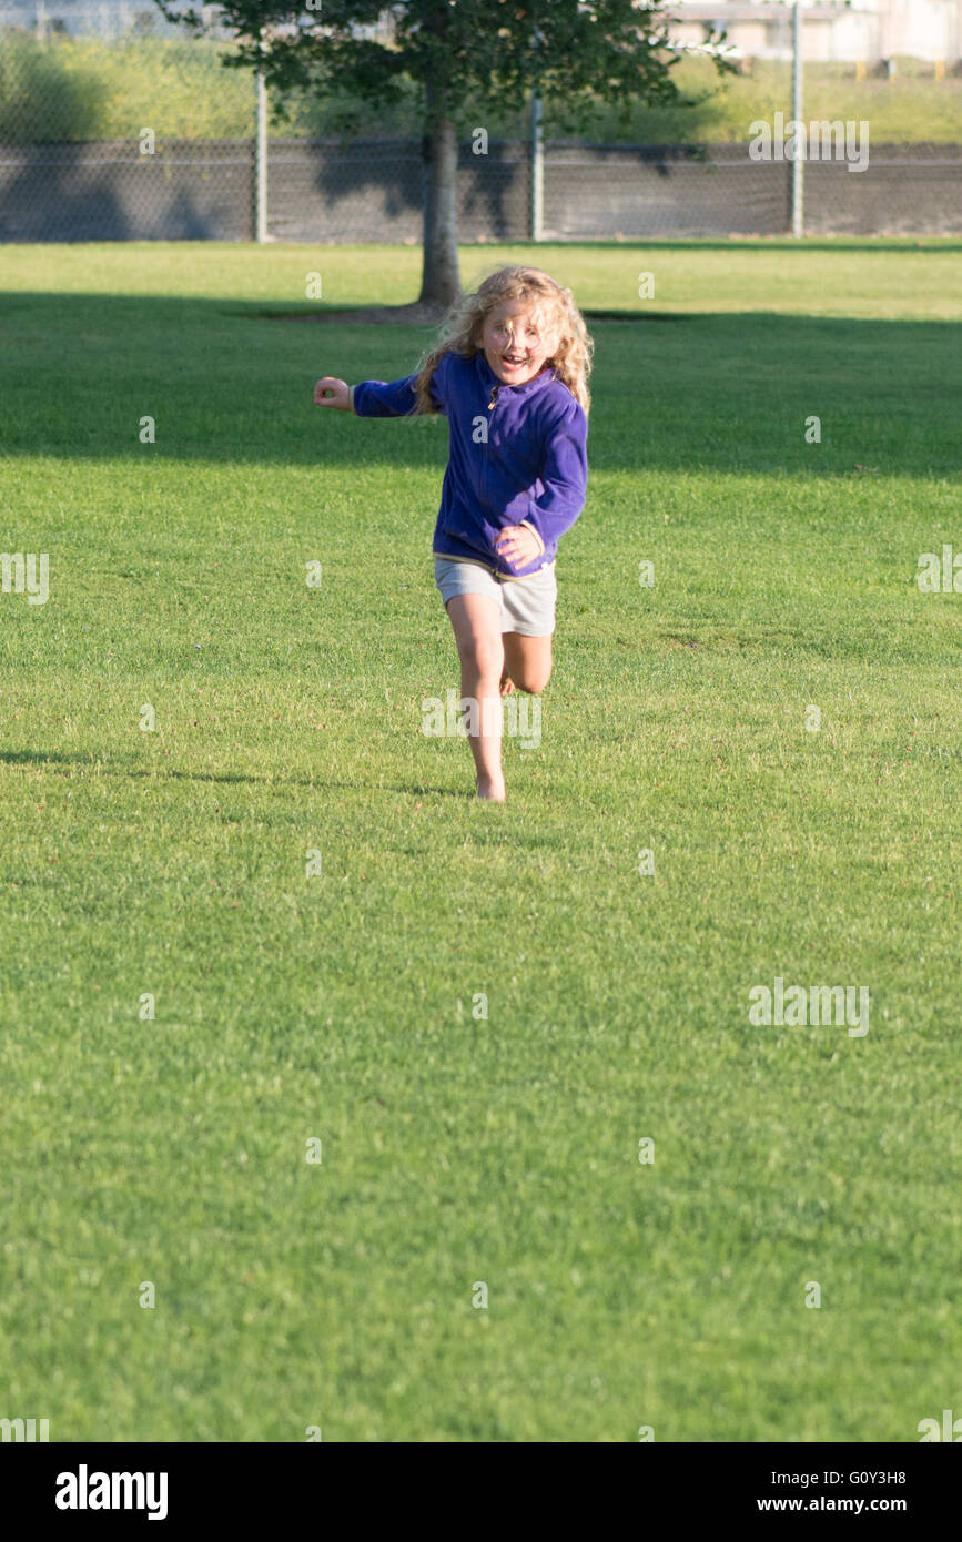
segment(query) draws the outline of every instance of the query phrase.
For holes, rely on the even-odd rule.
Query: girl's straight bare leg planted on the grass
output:
[[[478,797],[504,802],[501,771],[501,606],[486,594],[458,594],[447,601],[461,660],[461,695],[476,703],[470,746],[478,773]]]

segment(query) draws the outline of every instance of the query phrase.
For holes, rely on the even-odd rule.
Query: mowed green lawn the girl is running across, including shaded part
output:
[[[0,594],[0,1416],[962,1412],[962,594],[916,581],[962,554],[960,245],[464,250],[626,313],[503,808],[422,732],[446,426],[311,401],[430,333],[265,316],[311,271],[413,299],[419,253],[0,253],[0,547],[49,554]],[[868,988],[868,1032],[752,1024],[775,978]]]

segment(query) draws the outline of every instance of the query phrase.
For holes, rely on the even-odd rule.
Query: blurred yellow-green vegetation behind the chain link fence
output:
[[[96,39],[0,35],[0,139],[11,142],[130,139],[143,126],[159,137],[250,136],[254,88],[247,71],[224,69],[217,45],[190,39]],[[674,79],[694,106],[635,108],[627,139],[635,143],[746,140],[754,119],[777,108],[788,114],[789,66],[755,62],[749,74],[718,79],[706,60],[683,60]],[[296,96],[278,136],[356,134],[419,137],[413,88],[409,108],[372,114],[345,96]],[[853,65],[806,68],[806,119],[868,119],[874,143],[962,142],[962,77],[936,80],[931,65],[899,62],[896,79],[857,80]],[[464,105],[464,131],[484,125],[492,137],[524,136],[527,105],[501,116]],[[614,109],[598,106],[590,131],[577,134],[563,113],[546,117],[553,137],[615,143],[626,136]]]

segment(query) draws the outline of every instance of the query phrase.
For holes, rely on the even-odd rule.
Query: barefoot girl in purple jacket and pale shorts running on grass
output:
[[[478,797],[504,802],[501,695],[540,694],[552,671],[555,557],[584,507],[592,339],[570,290],[504,267],[462,296],[404,379],[314,386],[361,418],[444,413],[450,458],[435,583],[461,660]]]

